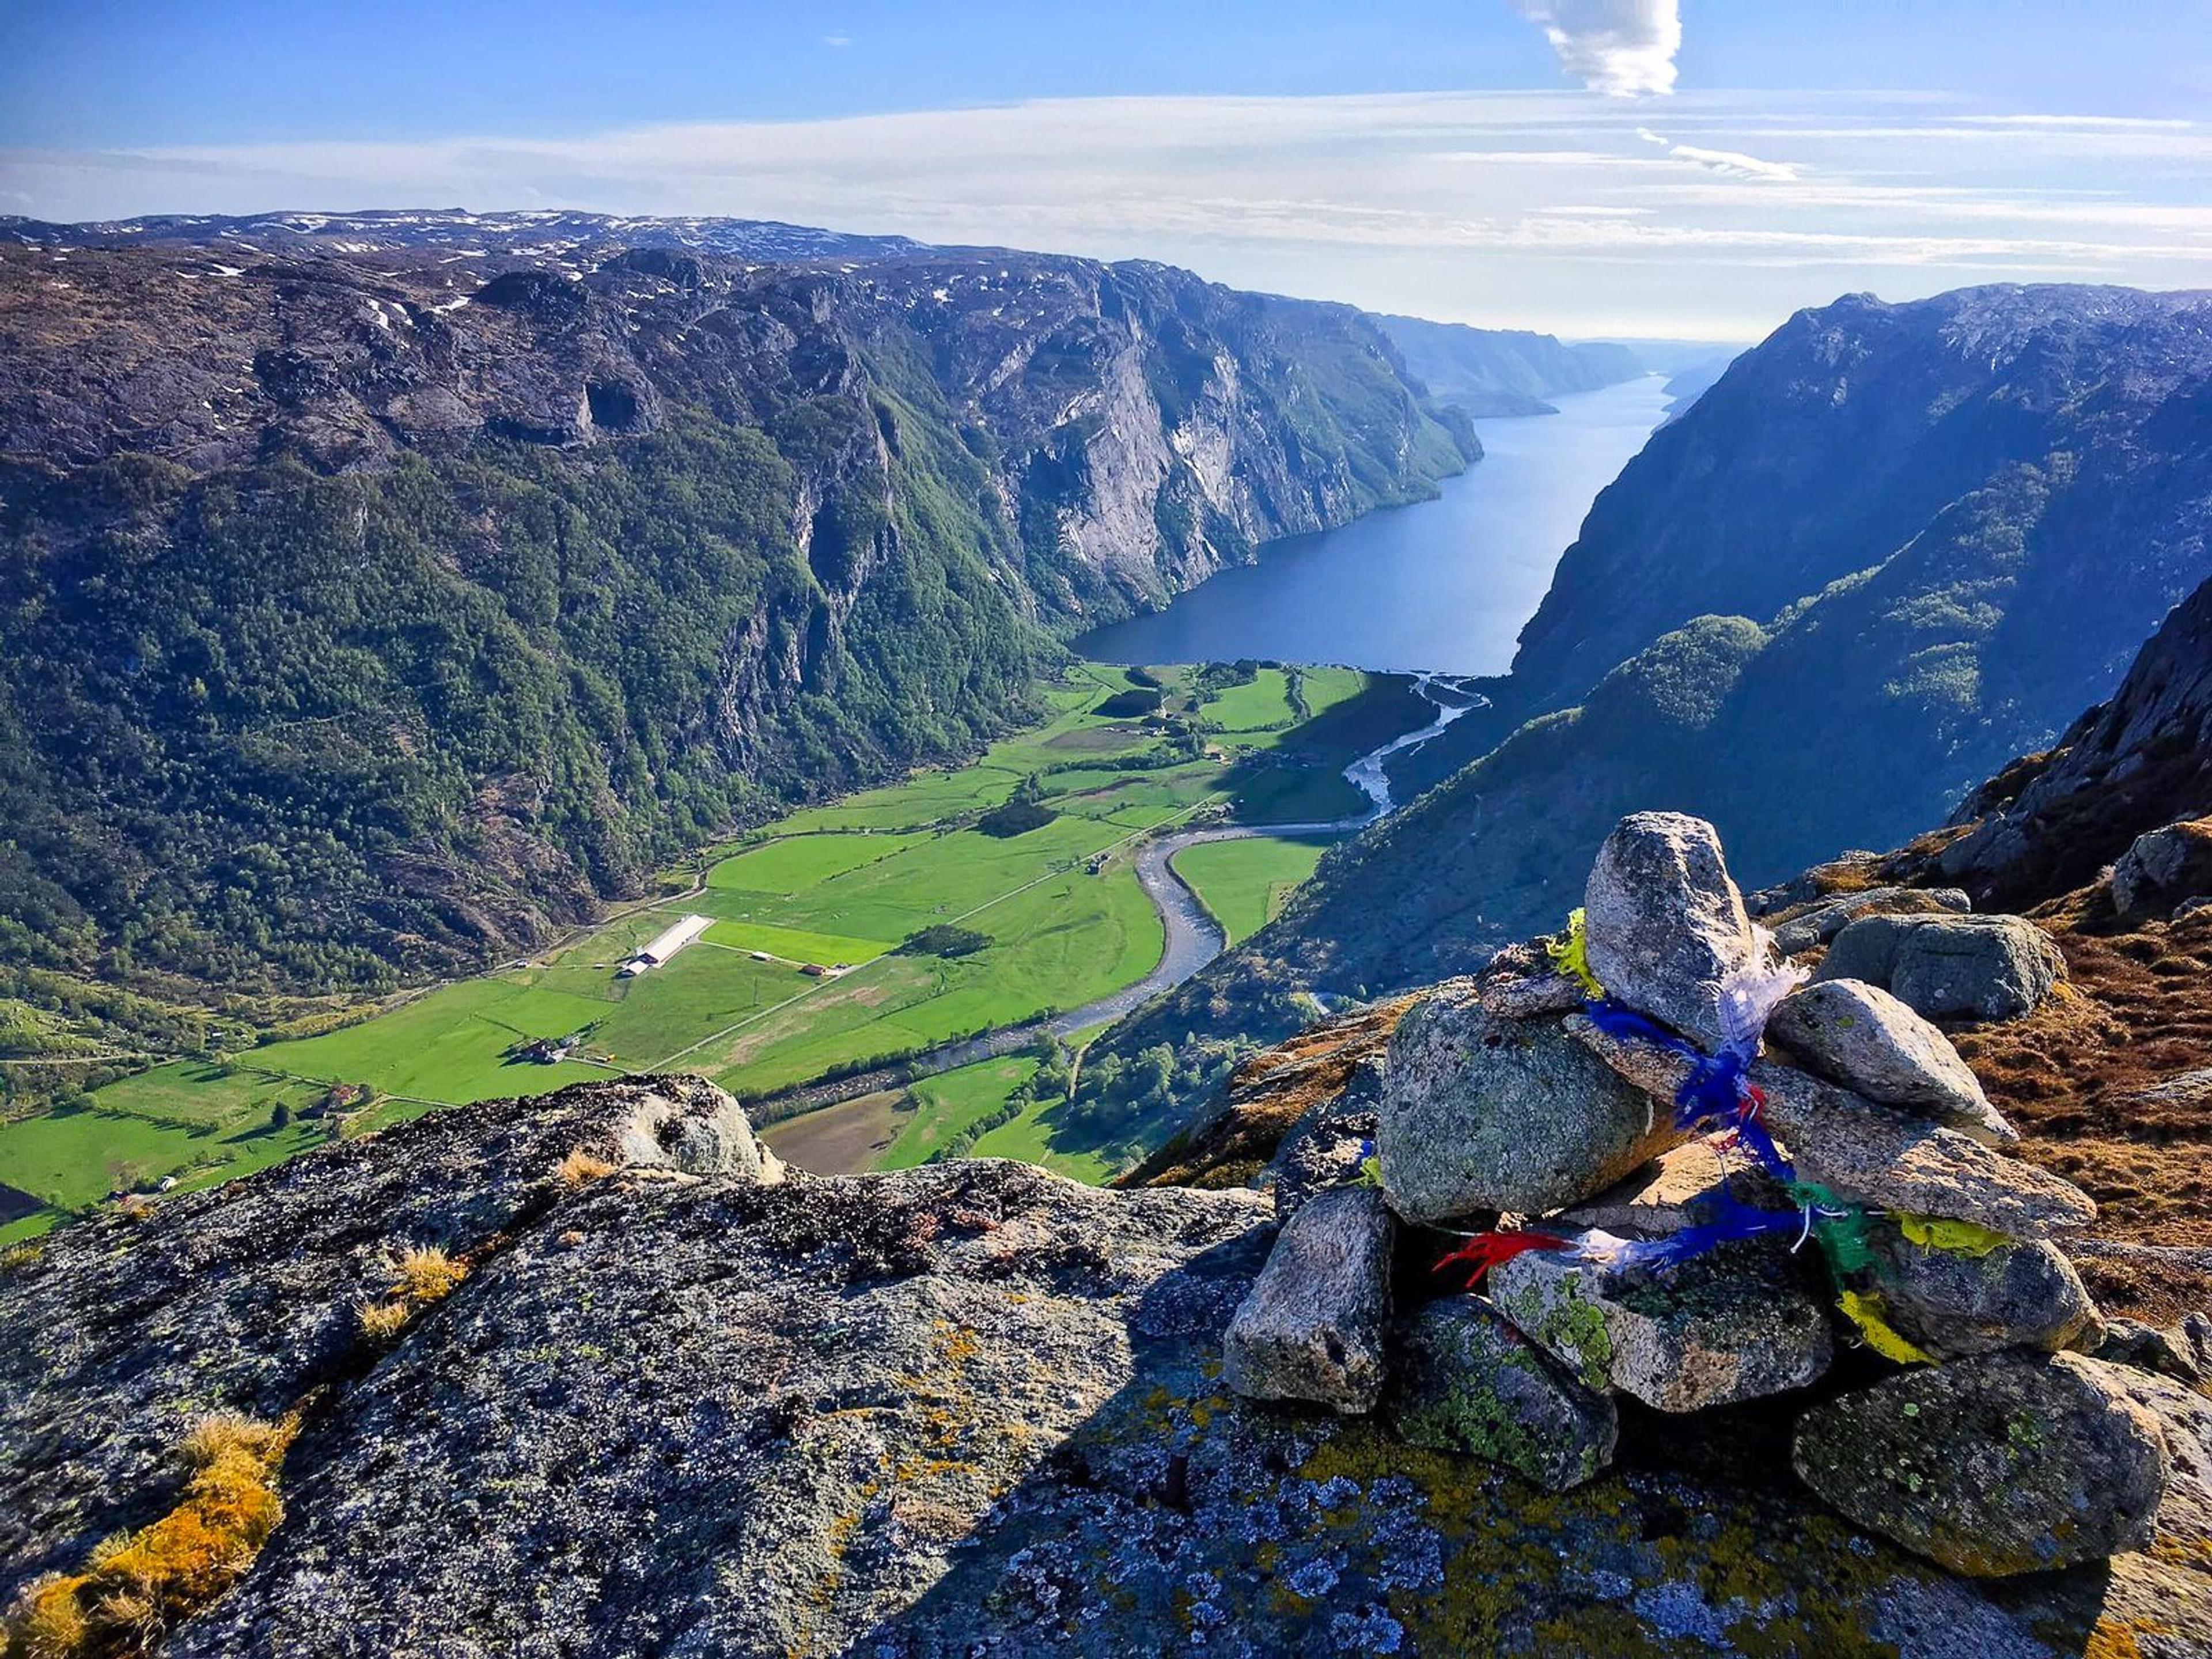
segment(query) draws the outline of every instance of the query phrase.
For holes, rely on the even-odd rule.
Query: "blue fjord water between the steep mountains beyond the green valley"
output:
[[[1502,675],[1597,491],[1666,411],[1648,376],[1557,398],[1559,414],[1478,420],[1482,460],[1433,502],[1290,535],[1166,611],[1075,641],[1093,661],[1334,661]]]

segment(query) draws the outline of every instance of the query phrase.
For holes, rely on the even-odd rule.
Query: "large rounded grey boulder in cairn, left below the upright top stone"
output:
[[[1455,991],[1391,1035],[1376,1148],[1407,1221],[1557,1210],[1681,1139],[1557,1020],[1504,1020]]]

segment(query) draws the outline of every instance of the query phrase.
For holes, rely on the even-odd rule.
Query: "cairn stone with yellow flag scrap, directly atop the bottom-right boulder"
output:
[[[1871,1223],[1889,1323],[1938,1360],[2006,1347],[2057,1352],[2097,1323],[2081,1274],[2048,1241],[1982,1241],[1942,1250],[1896,1223]]]

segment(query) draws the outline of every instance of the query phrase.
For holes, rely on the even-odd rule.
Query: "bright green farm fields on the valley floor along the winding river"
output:
[[[1130,984],[1161,951],[1159,916],[1135,880],[1137,838],[1223,801],[1259,821],[1334,818],[1363,796],[1340,768],[1416,723],[1402,681],[1358,670],[1301,675],[1312,719],[1298,723],[1290,675],[1199,692],[1192,670],[1152,670],[1164,714],[1203,721],[1172,750],[1159,721],[1095,710],[1130,688],[1119,668],[1077,664],[1040,695],[1046,719],[993,743],[969,765],[920,772],[750,832],[684,872],[650,905],[526,964],[436,987],[374,1018],[272,1042],[232,1064],[173,1062],[108,1084],[91,1106],[0,1126],[0,1183],[49,1210],[0,1239],[49,1225],[115,1186],[161,1175],[228,1179],[327,1137],[299,1110],[330,1084],[367,1086],[378,1104],[352,1119],[374,1128],[440,1104],[538,1095],[586,1077],[672,1066],[761,1095],[825,1071],[925,1048],[987,1026],[1079,1006]],[[1031,792],[1055,816],[1018,836],[975,818]],[[1234,847],[1234,849],[1232,849]],[[1192,849],[1192,883],[1243,936],[1312,867],[1312,847],[1254,841]],[[1192,858],[1192,854],[1186,854]],[[703,869],[703,880],[692,885]],[[679,916],[712,916],[706,938],[633,980],[615,969]],[[898,945],[953,922],[984,947],[951,960]],[[770,960],[754,960],[763,953]],[[801,964],[849,964],[810,978]],[[515,1048],[582,1033],[582,1055],[555,1066]],[[920,1161],[1004,1104],[1033,1062],[947,1073],[896,1113],[885,1159]],[[276,1104],[292,1113],[272,1126]],[[867,1128],[880,1139],[885,1121]],[[1033,1157],[1097,1179],[1084,1155],[1053,1155],[1048,1110],[993,1128],[980,1150]],[[847,1137],[849,1139],[849,1137]],[[874,1141],[869,1141],[874,1144]]]

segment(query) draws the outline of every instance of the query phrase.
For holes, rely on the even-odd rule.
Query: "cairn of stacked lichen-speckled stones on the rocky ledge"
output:
[[[2064,962],[2031,922],[1949,898],[1814,927],[1827,960],[1774,1009],[1750,1071],[1787,1188],[1677,1128],[1694,1062],[1593,1024],[1586,987],[1544,942],[1440,987],[1358,1091],[1374,1157],[1354,1166],[1343,1126],[1294,1137],[1287,1219],[1228,1329],[1230,1385],[1378,1411],[1411,1444],[1551,1489],[1613,1460],[1619,1396],[1688,1413],[1787,1394],[1805,1484],[1958,1573],[2146,1544],[2170,1475],[2159,1418],[2132,1374],[2088,1356],[2106,1325],[2055,1243],[2095,1206],[2000,1150],[2017,1135],[1929,1020],[2017,1015]],[[1708,1053],[1725,1040],[1721,984],[1772,947],[1712,825],[1679,814],[1621,821],[1584,916],[1608,1002]],[[1316,1146],[1334,1146],[1321,1170]],[[1608,1250],[1723,1201],[1809,1206],[1803,1237],[1732,1239],[1659,1270]],[[1557,1243],[1500,1252],[1486,1294],[1394,1318],[1400,1250],[1427,1265],[1438,1234],[1495,1228]]]

